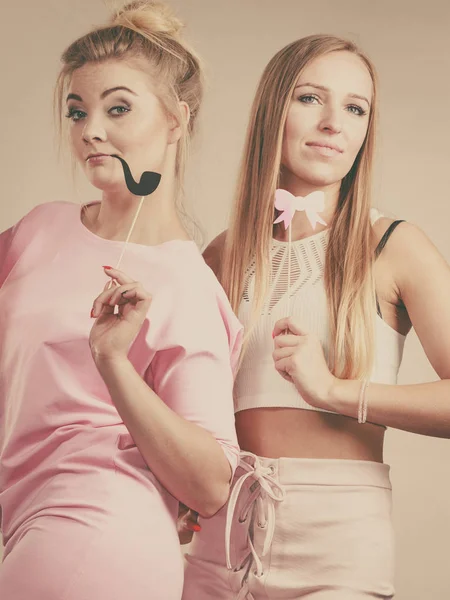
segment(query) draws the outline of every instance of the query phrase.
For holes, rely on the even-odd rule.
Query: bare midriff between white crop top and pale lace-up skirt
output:
[[[236,413],[241,450],[266,458],[337,458],[383,462],[385,428],[297,408]]]

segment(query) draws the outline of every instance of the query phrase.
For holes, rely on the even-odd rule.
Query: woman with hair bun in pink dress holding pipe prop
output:
[[[179,600],[178,504],[228,497],[242,327],[178,210],[202,97],[180,29],[133,2],[66,49],[56,107],[102,199],[0,235],[5,600]]]

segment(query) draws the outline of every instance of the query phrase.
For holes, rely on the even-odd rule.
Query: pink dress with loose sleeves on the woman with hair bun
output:
[[[122,242],[80,207],[38,206],[0,235],[0,508],[4,600],[177,600],[178,501],[144,463],[88,345]],[[153,301],[129,358],[233,469],[242,328],[194,242],[130,244],[121,269]],[[199,469],[201,465],[199,465]]]

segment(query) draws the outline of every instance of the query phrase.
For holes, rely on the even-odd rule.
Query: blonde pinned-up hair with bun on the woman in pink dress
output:
[[[115,12],[108,25],[96,27],[75,40],[63,53],[63,66],[55,87],[55,111],[62,130],[63,106],[72,74],[86,63],[106,60],[145,59],[166,110],[183,127],[176,157],[176,183],[181,195],[189,139],[194,132],[203,95],[199,57],[180,37],[182,22],[163,2],[138,0]],[[189,107],[190,118],[181,114],[179,102]]]

